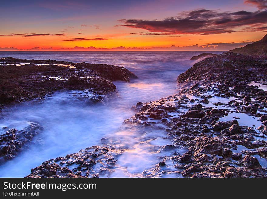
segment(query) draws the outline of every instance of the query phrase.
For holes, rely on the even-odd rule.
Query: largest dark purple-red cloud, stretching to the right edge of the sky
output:
[[[176,17],[164,20],[122,19],[119,21],[123,23],[123,26],[149,31],[145,33],[146,35],[210,35],[255,31],[255,29],[262,28],[267,24],[267,10],[220,12],[199,9],[182,12]]]

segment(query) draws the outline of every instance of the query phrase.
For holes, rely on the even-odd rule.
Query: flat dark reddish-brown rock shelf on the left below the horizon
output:
[[[0,58],[0,105],[44,99],[57,90],[85,90],[92,101],[115,91],[114,80],[137,78],[124,67],[56,60]]]

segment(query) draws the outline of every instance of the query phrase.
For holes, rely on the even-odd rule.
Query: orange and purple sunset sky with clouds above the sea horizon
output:
[[[267,0],[9,0],[0,50],[230,50],[267,34]]]

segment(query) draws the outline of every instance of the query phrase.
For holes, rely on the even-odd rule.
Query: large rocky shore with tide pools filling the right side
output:
[[[266,83],[266,67],[266,60],[235,53],[207,58],[178,76],[187,85],[180,93],[144,104],[127,121],[166,125],[173,146],[188,148],[173,157],[184,177],[267,177],[267,91],[251,85]]]

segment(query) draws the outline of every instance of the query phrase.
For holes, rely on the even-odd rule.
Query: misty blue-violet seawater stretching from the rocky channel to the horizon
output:
[[[144,170],[157,164],[157,158],[162,155],[149,149],[170,144],[171,140],[165,139],[164,129],[130,129],[123,125],[123,121],[134,115],[130,108],[137,102],[150,102],[174,94],[177,76],[197,62],[190,61],[190,58],[200,53],[0,52],[0,57],[124,66],[139,77],[130,83],[115,81],[119,97],[105,104],[84,103],[73,96],[75,91],[58,91],[45,101],[26,102],[3,110],[1,128],[8,126],[22,130],[34,122],[42,126],[43,131],[34,138],[28,149],[0,166],[0,177],[25,177],[31,173],[31,168],[46,160],[101,145],[103,137],[117,139],[118,144],[129,148],[120,156],[113,174],[103,177],[139,177]]]

